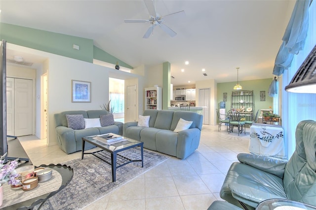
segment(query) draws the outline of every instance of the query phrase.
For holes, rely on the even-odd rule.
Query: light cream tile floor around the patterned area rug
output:
[[[58,145],[46,146],[35,136],[19,137],[35,166],[79,158],[67,155]],[[226,126],[203,125],[198,149],[185,160],[170,157],[155,168],[131,180],[84,210],[206,210],[215,200],[237,154],[248,153],[249,128],[238,136]]]

